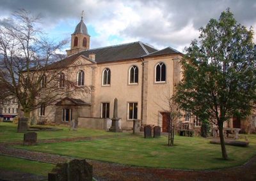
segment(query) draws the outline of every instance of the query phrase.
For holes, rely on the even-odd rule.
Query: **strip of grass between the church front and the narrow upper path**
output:
[[[17,124],[0,122],[0,143],[6,141],[22,141],[24,133],[17,133]],[[75,138],[83,136],[102,136],[113,135],[116,133],[109,133],[106,131],[83,129],[79,128],[77,131],[69,131],[67,126],[58,126],[63,130],[59,131],[36,131],[38,140],[52,139],[52,138]]]

